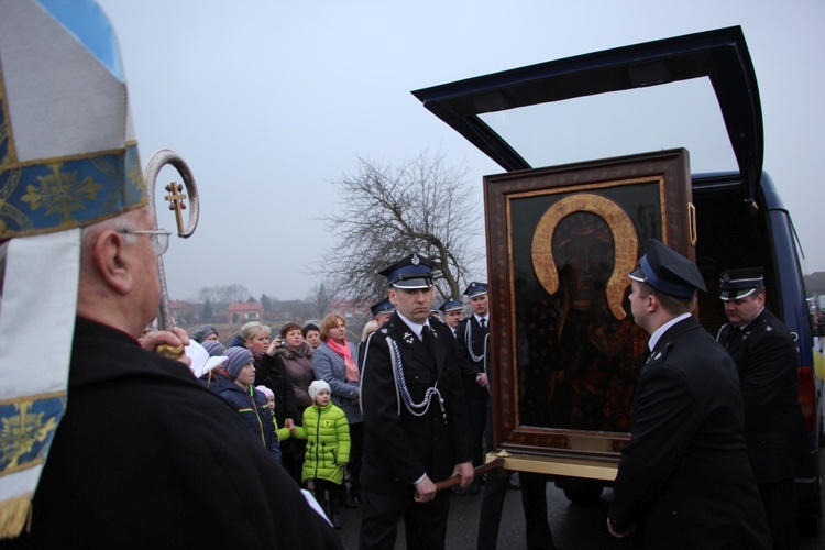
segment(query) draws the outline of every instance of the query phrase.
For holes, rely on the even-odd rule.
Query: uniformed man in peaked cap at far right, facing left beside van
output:
[[[765,307],[761,267],[722,273],[728,318],[717,340],[739,371],[748,457],[774,549],[799,547],[793,479],[804,450],[799,352],[793,336]]]

